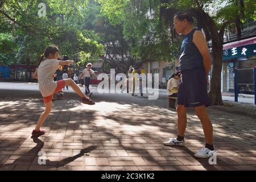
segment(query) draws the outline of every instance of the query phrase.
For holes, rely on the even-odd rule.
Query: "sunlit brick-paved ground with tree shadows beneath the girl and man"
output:
[[[28,88],[29,84],[26,85]],[[199,119],[188,110],[185,147],[162,142],[176,137],[176,111],[166,96],[158,100],[127,94],[93,94],[96,105],[82,105],[69,91],[53,101],[43,125],[46,135],[33,141],[31,131],[44,108],[38,91],[0,87],[1,170],[255,170],[256,127],[251,115],[209,107],[217,165],[193,154],[204,146]],[[242,108],[242,107],[241,107]],[[249,107],[251,108],[251,107]],[[46,165],[38,152],[46,152]],[[87,155],[85,155],[87,154]]]

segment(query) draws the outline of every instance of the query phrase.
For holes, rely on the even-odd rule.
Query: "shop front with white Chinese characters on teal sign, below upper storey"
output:
[[[256,38],[247,39],[246,41],[236,42],[229,45],[224,45],[223,50],[223,65],[221,74],[221,92],[234,92],[234,69],[241,70],[243,80],[250,80],[248,72],[253,71],[256,67]],[[245,71],[243,71],[245,70]],[[253,94],[255,86],[240,85],[239,90],[246,94]]]

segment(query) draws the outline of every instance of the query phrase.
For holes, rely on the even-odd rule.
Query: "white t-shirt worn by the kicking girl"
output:
[[[47,59],[40,63],[38,67],[39,90],[43,97],[51,96],[57,88],[57,82],[53,80],[53,75],[60,64],[60,60]]]

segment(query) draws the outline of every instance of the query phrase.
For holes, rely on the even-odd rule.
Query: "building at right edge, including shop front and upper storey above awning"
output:
[[[223,45],[221,92],[234,92],[234,69],[240,70],[240,93],[254,94],[253,69],[256,67],[256,22],[243,24],[242,38],[237,40],[236,31],[229,32]]]

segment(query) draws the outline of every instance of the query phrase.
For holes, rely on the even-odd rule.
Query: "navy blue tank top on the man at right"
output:
[[[193,43],[193,34],[199,28],[193,28],[189,34],[184,36],[184,40],[180,48],[179,71],[185,71],[193,68],[204,68],[203,57]]]

